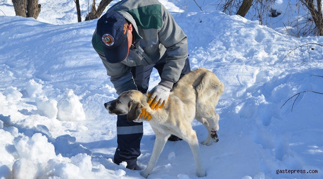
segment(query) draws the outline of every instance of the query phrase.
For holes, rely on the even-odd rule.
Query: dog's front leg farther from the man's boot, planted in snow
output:
[[[205,177],[206,173],[201,159],[196,132],[193,129],[187,130],[187,134],[183,136],[183,140],[185,140],[188,143],[189,147],[192,150],[198,177]]]

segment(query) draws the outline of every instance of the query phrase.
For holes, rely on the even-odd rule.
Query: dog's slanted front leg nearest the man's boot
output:
[[[157,163],[157,160],[158,160],[159,156],[161,155],[161,151],[162,151],[163,147],[165,146],[165,143],[167,142],[167,139],[169,137],[169,135],[162,134],[154,128],[153,128],[153,130],[155,131],[155,134],[156,134],[156,140],[155,140],[153,153],[152,153],[152,156],[150,157],[148,166],[140,174],[144,178],[147,178],[152,173],[152,171]]]

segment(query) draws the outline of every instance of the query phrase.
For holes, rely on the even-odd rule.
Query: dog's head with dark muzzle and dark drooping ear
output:
[[[125,115],[129,122],[142,122],[139,115],[143,108],[141,99],[145,98],[143,93],[137,90],[129,90],[121,93],[118,98],[104,103],[104,107],[109,111],[109,114]],[[146,99],[147,101],[147,99]]]

